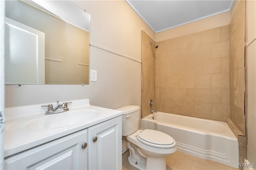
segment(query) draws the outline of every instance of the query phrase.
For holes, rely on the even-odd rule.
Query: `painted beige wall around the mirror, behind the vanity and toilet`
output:
[[[141,29],[154,32],[125,1],[75,1],[90,14],[90,41],[114,54],[90,47],[90,69],[98,81],[89,85],[7,85],[6,106],[89,98],[92,105],[115,109],[141,106]]]

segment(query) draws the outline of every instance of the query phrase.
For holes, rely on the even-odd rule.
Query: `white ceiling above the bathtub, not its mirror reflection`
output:
[[[126,0],[155,33],[229,11],[234,0]]]

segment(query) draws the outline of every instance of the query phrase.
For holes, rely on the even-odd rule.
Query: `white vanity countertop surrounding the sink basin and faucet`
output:
[[[58,139],[65,135],[69,135],[76,131],[86,129],[90,126],[122,115],[122,111],[92,106],[90,105],[89,99],[64,102],[72,102],[72,104],[68,104],[68,108],[70,109],[70,111],[80,109],[92,109],[100,111],[101,114],[98,117],[84,120],[74,125],[56,128],[49,127],[45,129],[42,129],[39,127],[40,125],[37,125],[34,129],[32,129],[25,126],[28,121],[42,118],[65,119],[66,117],[70,117],[71,113],[70,111],[66,111],[62,113],[45,115],[44,113],[47,108],[41,107],[45,104],[8,107],[5,109],[6,123],[4,127],[4,157],[11,156],[13,154],[22,152],[32,147],[36,147],[38,145],[42,145],[54,139]],[[61,103],[62,102],[60,102],[60,104]],[[53,106],[56,106],[56,104],[52,104]]]

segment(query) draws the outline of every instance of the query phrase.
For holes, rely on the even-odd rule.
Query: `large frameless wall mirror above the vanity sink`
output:
[[[5,4],[6,84],[89,84],[87,12],[67,0]]]

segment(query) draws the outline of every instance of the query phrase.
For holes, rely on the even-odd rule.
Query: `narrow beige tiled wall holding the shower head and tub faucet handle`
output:
[[[156,108],[156,48],[149,42],[155,43],[145,31],[142,31],[142,117],[149,115],[150,109]],[[150,100],[154,104],[151,108],[148,104]]]

